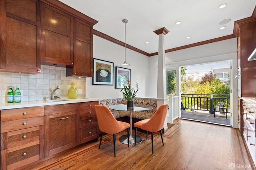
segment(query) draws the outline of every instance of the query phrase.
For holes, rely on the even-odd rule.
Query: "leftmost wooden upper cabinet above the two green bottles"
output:
[[[40,72],[40,1],[1,0],[0,17],[0,69]]]

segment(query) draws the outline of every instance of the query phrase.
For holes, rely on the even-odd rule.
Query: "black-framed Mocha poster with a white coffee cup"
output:
[[[92,85],[113,85],[114,63],[93,59]]]

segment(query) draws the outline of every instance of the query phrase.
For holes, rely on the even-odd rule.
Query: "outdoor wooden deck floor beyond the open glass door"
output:
[[[213,123],[217,125],[231,126],[230,114],[227,115],[227,119],[226,119],[225,115],[218,114],[217,116],[217,113],[216,113],[216,116],[214,117],[214,114],[210,114],[210,113],[200,113],[199,111],[198,112],[181,111],[180,119],[187,119],[187,120],[193,120],[193,121]]]

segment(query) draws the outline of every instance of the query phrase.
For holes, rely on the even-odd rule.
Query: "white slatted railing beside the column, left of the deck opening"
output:
[[[179,96],[173,96],[173,94],[169,95],[169,118],[167,123],[173,123],[174,119],[177,119],[179,117],[179,111],[180,111],[180,101]]]

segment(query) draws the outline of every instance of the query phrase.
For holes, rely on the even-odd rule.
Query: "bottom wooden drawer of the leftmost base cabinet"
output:
[[[18,148],[17,150],[15,149],[16,148],[13,150],[8,149],[7,151],[7,166],[32,157],[36,157],[35,159],[39,160],[39,141],[32,142],[30,145],[25,145],[24,148]]]

